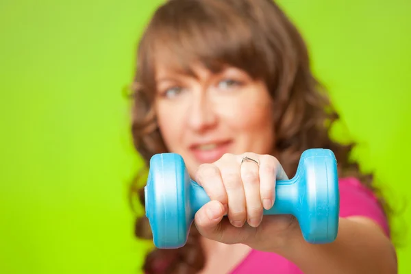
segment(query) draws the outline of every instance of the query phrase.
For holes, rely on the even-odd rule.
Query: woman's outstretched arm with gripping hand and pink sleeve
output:
[[[258,159],[260,164],[250,161],[241,165],[242,155],[226,155],[214,164],[199,167],[197,182],[211,199],[195,214],[195,224],[202,236],[277,253],[306,274],[397,273],[397,258],[384,211],[373,192],[358,179],[339,181],[336,240],[313,245],[303,239],[296,219],[286,215],[262,218],[264,201],[275,193],[273,182],[286,175],[272,156],[250,154],[247,157]],[[223,219],[224,215],[228,218]]]

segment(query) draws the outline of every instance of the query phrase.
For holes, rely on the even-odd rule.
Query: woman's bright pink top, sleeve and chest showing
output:
[[[390,235],[388,222],[373,192],[362,186],[356,178],[340,179],[340,216],[366,216],[377,222],[386,235]],[[249,273],[288,273],[301,274],[295,264],[275,253],[253,250],[231,274]]]

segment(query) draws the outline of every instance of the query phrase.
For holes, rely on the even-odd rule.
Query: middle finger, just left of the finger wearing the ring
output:
[[[228,219],[235,227],[242,227],[247,219],[246,200],[236,155],[225,154],[217,161],[228,198]]]

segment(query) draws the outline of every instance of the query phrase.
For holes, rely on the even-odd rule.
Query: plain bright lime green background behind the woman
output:
[[[149,245],[133,238],[127,184],[140,160],[122,92],[160,2],[0,2],[1,273],[138,273]],[[349,130],[334,135],[360,142],[362,169],[401,209],[411,197],[411,4],[280,3]],[[400,273],[410,273],[409,207],[400,213]]]

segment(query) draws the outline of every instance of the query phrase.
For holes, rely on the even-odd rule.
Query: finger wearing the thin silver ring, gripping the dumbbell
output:
[[[240,159],[240,174],[247,203],[247,223],[251,227],[258,227],[262,221],[262,200],[260,197],[260,175],[258,155],[247,153],[247,159]],[[254,162],[256,161],[256,162]]]

